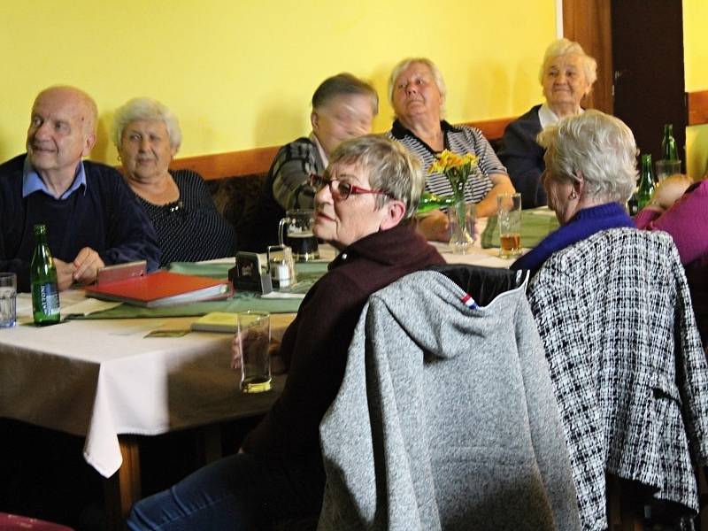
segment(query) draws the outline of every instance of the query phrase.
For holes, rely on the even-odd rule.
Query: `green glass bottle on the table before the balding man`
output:
[[[32,285],[32,313],[35,325],[43,327],[58,323],[60,314],[57,267],[51,258],[47,227],[44,225],[35,225],[35,254],[29,267],[29,281]]]

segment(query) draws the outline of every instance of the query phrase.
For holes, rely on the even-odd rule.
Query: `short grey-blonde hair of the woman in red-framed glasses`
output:
[[[405,204],[404,220],[415,215],[425,175],[418,158],[398,142],[383,135],[364,135],[342,142],[329,158],[329,165],[341,164],[358,166],[368,173],[371,189],[386,192],[376,196],[376,208],[397,199]]]

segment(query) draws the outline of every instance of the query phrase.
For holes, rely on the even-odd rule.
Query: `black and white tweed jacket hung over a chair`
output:
[[[582,528],[607,527],[604,473],[698,509],[708,365],[671,236],[606,230],[554,253],[529,286],[566,428]]]

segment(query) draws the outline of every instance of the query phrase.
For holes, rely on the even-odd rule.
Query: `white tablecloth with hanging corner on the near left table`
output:
[[[62,293],[67,307],[81,292]],[[0,329],[0,417],[85,435],[84,457],[105,477],[121,464],[119,434],[158,435],[265,412],[279,389],[242,395],[230,370],[231,334],[145,335],[196,318],[71,320],[31,324],[27,294],[18,326]],[[292,314],[273,315],[282,330]],[[281,386],[281,380],[276,381]]]

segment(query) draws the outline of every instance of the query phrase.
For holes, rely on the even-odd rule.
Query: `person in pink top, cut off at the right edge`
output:
[[[708,354],[708,179],[691,184],[685,175],[669,177],[651,203],[636,215],[635,224],[672,236],[686,268],[698,329]]]

